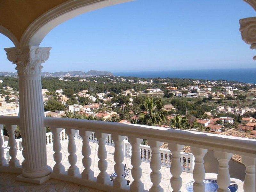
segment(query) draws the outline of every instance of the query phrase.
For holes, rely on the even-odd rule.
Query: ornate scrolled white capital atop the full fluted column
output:
[[[4,48],[7,59],[16,64],[18,75],[41,75],[41,65],[49,59],[51,47],[23,46]]]

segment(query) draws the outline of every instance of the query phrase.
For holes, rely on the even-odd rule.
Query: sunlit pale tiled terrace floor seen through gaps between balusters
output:
[[[79,168],[80,173],[81,173],[84,170],[84,167],[83,167],[83,164],[82,164],[83,156],[82,156],[82,152],[81,152],[82,140],[76,139],[75,143],[76,143],[76,148],[77,148],[77,151],[76,151],[76,155],[77,155],[76,166]],[[62,150],[61,150],[62,162],[61,163],[65,166],[65,170],[67,170],[68,167],[69,167],[69,163],[68,163],[68,155],[69,155],[68,154],[68,141],[62,141],[61,146],[62,146]],[[91,169],[94,172],[94,177],[96,177],[100,172],[99,169],[98,169],[99,159],[98,159],[98,156],[97,156],[98,144],[90,142],[90,146],[91,146],[91,151],[92,151],[92,154],[91,154],[91,158],[92,158]],[[111,174],[111,173],[114,172],[114,164],[115,164],[115,162],[114,162],[114,147],[106,145],[106,149],[107,149],[107,153],[108,153],[108,156],[107,156],[107,161],[108,161],[107,173]],[[47,163],[51,167],[53,167],[54,164],[55,164],[54,159],[53,159],[53,153],[54,153],[54,151],[52,149],[52,145],[47,145]],[[20,160],[20,162],[23,161],[23,156],[21,154],[21,151],[18,151],[17,158]],[[128,167],[129,169],[132,168],[131,159],[125,157],[123,163],[126,164],[126,167]],[[150,180],[150,173],[151,173],[150,165],[149,165],[149,163],[142,162],[141,168],[142,168],[141,181],[144,183],[145,189],[148,190],[152,186],[152,183],[151,183],[151,180]],[[164,192],[169,192],[168,186],[170,184],[170,178],[172,177],[171,173],[170,173],[170,168],[162,167],[160,172],[162,173],[162,180],[161,180],[160,185],[161,185],[162,188],[164,188]],[[186,183],[188,183],[189,181],[193,181],[192,173],[182,172],[181,178],[182,178],[181,191],[186,192],[187,191],[186,188],[185,188]],[[206,178],[217,178],[217,174],[207,173]],[[126,178],[126,179],[131,181],[130,184],[132,183],[133,179],[132,179],[132,175],[131,175],[130,170],[129,170],[129,177]],[[53,180],[53,183],[55,181],[58,181],[58,180]],[[242,189],[243,188],[242,187],[242,182],[240,180],[235,180],[235,181],[237,182],[239,188]],[[51,180],[49,182],[51,182]],[[58,181],[58,182],[59,183],[64,183],[64,182],[61,182],[61,181]],[[72,184],[72,185],[75,185],[75,184]],[[0,191],[1,191],[1,189],[0,189]],[[90,190],[88,190],[88,191],[90,191]],[[20,192],[20,190],[19,190],[19,192]]]

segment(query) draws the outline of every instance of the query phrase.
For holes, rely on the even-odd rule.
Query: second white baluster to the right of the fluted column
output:
[[[66,133],[68,135],[68,162],[70,164],[68,168],[68,175],[75,176],[79,174],[79,168],[76,166],[77,156],[76,156],[76,143],[75,134],[77,130],[67,129]]]

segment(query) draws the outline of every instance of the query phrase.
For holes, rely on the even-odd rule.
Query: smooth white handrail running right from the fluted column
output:
[[[1,119],[0,119],[1,122]],[[45,117],[45,126],[100,131],[255,157],[256,140],[212,133],[84,119]]]

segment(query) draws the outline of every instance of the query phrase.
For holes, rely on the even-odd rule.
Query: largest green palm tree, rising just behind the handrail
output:
[[[140,105],[140,110],[146,114],[140,116],[141,124],[156,126],[165,121],[162,100],[154,101],[153,98],[146,98]]]

